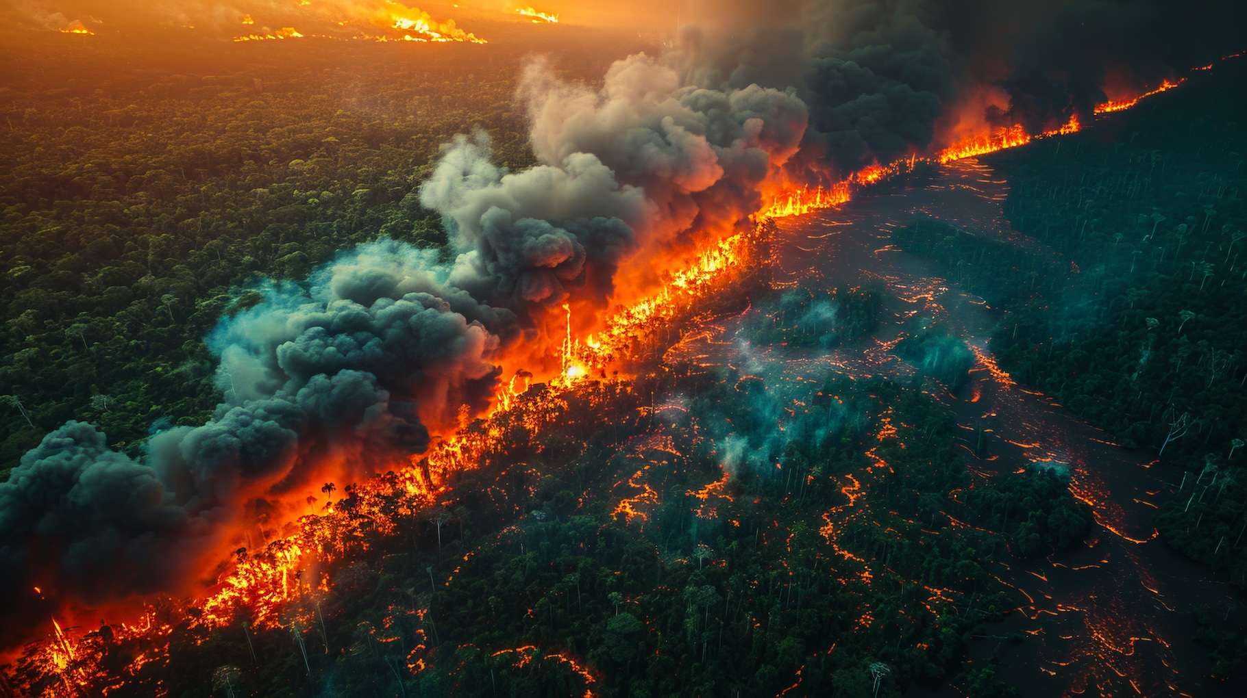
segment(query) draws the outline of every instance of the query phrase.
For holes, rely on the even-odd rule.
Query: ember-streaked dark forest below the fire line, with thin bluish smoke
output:
[[[734,303],[726,302],[733,317]],[[953,447],[939,439],[955,431],[927,442],[914,426],[948,419],[944,409],[885,381],[811,369],[818,350],[762,354],[741,340],[725,351],[737,368],[677,360],[626,385],[534,386],[526,400],[549,411],[539,421],[499,413],[469,428],[500,436],[435,495],[397,474],[388,492],[347,487],[334,501],[340,514],[322,519],[359,524],[338,528],[330,540],[340,548],[325,562],[297,570],[274,616],[242,610],[216,624],[216,608],[152,607],[148,623],[163,633],[106,626],[75,644],[79,658],[104,657],[95,671],[107,678],[87,683],[125,681],[122,694],[187,691],[205,676],[221,679],[219,694],[291,682],[389,691],[395,681],[589,694],[653,651],[692,663],[754,642],[771,649],[723,681],[773,692],[791,683],[789,659],[807,661],[803,681],[816,689],[843,681],[833,676],[879,644],[905,648],[888,654],[898,679],[955,671],[956,642],[936,629],[995,617],[951,611],[971,593],[986,606],[996,592],[983,591],[985,572],[955,552],[988,533],[940,514],[919,524],[908,501],[915,477],[915,492],[965,484],[963,469],[928,460]],[[893,477],[907,486],[888,486]],[[874,497],[900,499],[872,505],[862,495],[877,489]],[[833,547],[811,553],[819,537]],[[485,580],[494,580],[488,592]],[[902,612],[877,606],[882,588],[909,590]],[[687,617],[668,617],[672,605],[687,605]],[[811,613],[838,619],[799,621]],[[592,639],[601,633],[638,647],[607,652]],[[803,649],[784,658],[792,651],[779,633]],[[138,656],[150,663],[136,667]],[[67,676],[77,662],[67,661]],[[759,673],[764,663],[784,673]]]

